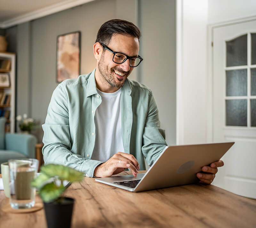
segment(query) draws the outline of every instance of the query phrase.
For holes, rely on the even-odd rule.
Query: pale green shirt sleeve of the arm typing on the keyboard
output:
[[[86,159],[79,153],[72,153],[69,129],[68,97],[61,84],[53,91],[48,107],[42,149],[44,163],[69,166],[93,177],[94,169],[102,162]]]

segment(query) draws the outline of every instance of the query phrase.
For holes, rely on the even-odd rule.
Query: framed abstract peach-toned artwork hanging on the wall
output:
[[[80,31],[57,37],[56,81],[75,79],[80,75]]]

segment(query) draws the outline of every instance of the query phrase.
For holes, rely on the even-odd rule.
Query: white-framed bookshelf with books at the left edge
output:
[[[15,131],[16,55],[0,52],[0,117],[6,120],[5,132]]]

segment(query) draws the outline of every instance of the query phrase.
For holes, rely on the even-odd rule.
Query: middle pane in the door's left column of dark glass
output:
[[[247,95],[247,69],[226,71],[226,95]]]

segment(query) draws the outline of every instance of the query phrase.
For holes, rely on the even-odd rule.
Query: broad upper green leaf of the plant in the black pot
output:
[[[68,180],[71,182],[82,181],[84,179],[84,173],[64,165],[48,164],[41,167],[41,172],[45,173],[49,177],[56,177],[60,180]]]

